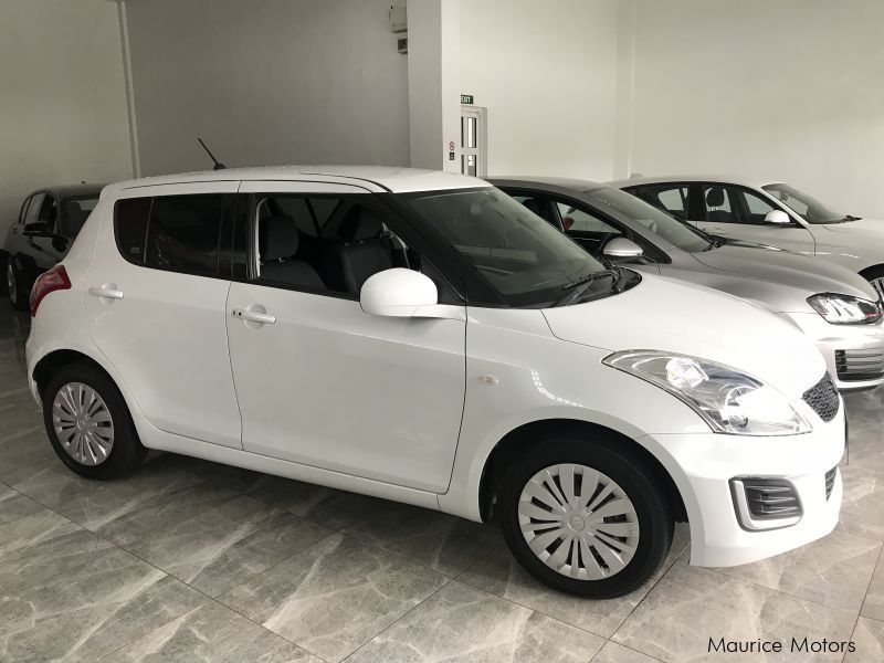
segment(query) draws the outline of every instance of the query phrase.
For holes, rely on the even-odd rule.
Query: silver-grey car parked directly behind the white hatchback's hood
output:
[[[872,286],[850,270],[706,234],[606,185],[533,177],[490,181],[596,255],[749,299],[789,320],[817,344],[839,389],[884,382],[882,306]]]

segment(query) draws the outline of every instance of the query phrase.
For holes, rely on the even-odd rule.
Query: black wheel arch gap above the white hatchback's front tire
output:
[[[677,522],[687,520],[687,509],[675,480],[645,446],[620,431],[577,419],[544,419],[528,422],[509,431],[497,442],[485,459],[478,485],[478,509],[483,520],[488,520],[493,514],[494,498],[497,494],[498,484],[509,462],[528,449],[541,443],[545,436],[562,432],[604,436],[608,440],[617,440],[628,446],[630,451],[636,454],[642,465],[660,482],[672,506],[675,519]]]

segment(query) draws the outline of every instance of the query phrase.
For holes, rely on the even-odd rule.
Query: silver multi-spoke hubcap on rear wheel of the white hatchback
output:
[[[101,465],[114,446],[114,420],[88,385],[69,382],[52,401],[52,425],[59,443],[77,463]]]

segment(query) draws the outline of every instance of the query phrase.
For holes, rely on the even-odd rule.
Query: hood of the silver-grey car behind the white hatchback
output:
[[[788,283],[810,291],[808,295],[838,293],[877,299],[869,282],[846,267],[774,246],[734,242],[691,255],[709,269]]]

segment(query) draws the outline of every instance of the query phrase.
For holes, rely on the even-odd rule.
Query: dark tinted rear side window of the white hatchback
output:
[[[224,196],[157,196],[116,204],[123,256],[135,264],[199,276],[218,275]]]

